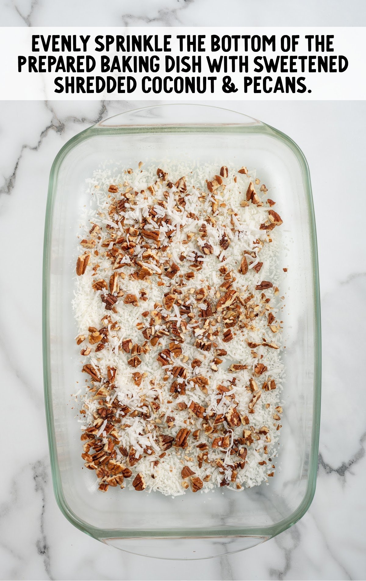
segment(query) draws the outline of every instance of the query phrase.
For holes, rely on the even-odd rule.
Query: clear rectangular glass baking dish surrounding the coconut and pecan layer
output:
[[[256,168],[275,188],[284,220],[284,363],[279,469],[268,485],[175,498],[109,489],[82,469],[80,424],[70,398],[81,379],[71,310],[78,217],[85,178],[101,162],[202,160]],[[44,239],[43,356],[53,488],[74,526],[107,544],[160,558],[207,558],[252,547],[292,526],[315,491],[321,342],[317,242],[310,175],[297,145],[242,114],[202,105],[162,105],[101,121],[70,139],[49,178]],[[88,473],[88,474],[87,474]],[[162,541],[164,539],[164,541]]]

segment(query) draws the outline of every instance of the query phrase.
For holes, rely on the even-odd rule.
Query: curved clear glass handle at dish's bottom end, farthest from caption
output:
[[[267,536],[233,536],[233,537],[135,537],[124,539],[112,537],[99,539],[103,543],[119,548],[127,553],[167,560],[198,560],[221,557],[238,553],[247,548],[264,543]]]

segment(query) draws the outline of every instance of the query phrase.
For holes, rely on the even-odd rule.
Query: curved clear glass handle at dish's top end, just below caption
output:
[[[119,113],[94,125],[94,128],[116,127],[162,127],[172,125],[263,125],[261,121],[247,117],[243,113],[197,103],[166,103],[132,109]]]

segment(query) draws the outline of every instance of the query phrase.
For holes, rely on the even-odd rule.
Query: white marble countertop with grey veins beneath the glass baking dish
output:
[[[364,24],[354,0],[0,2],[6,26]],[[84,5],[84,9],[82,9]],[[76,9],[74,10],[74,6]],[[315,17],[312,17],[314,16]],[[283,16],[282,16],[283,15]],[[244,19],[245,16],[245,19]],[[238,24],[238,19],[235,21]],[[150,102],[152,104],[152,102]],[[215,103],[211,102],[211,105]],[[231,108],[290,135],[311,171],[322,302],[322,417],[317,490],[295,526],[245,553],[208,561],[158,561],[98,543],[63,517],[53,497],[41,345],[42,246],[52,161],[64,143],[137,102],[2,102],[0,368],[5,429],[0,489],[1,579],[364,579],[366,390],[358,375],[364,332],[364,102],[237,102]],[[224,102],[217,105],[225,106]],[[20,274],[21,273],[21,274]],[[16,415],[13,412],[16,407]],[[5,414],[4,414],[4,410]],[[10,413],[8,410],[11,410]],[[21,431],[15,418],[21,418]],[[8,436],[9,434],[9,436]]]

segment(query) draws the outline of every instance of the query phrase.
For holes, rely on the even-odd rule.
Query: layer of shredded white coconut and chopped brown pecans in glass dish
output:
[[[142,162],[87,185],[73,300],[85,467],[103,492],[268,483],[284,366],[267,187],[246,167]]]

